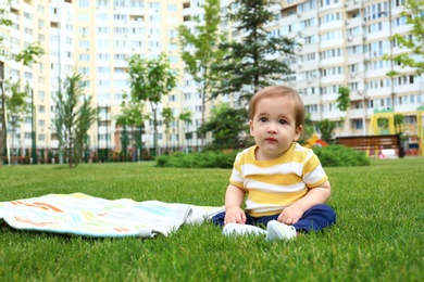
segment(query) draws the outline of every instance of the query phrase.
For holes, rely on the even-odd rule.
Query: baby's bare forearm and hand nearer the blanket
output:
[[[225,193],[225,218],[224,225],[229,222],[246,223],[246,215],[241,209],[241,202],[245,200],[245,191],[229,184]]]

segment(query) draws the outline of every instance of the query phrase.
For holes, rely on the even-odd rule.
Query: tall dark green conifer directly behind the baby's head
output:
[[[294,54],[296,41],[284,36],[270,37],[265,29],[274,18],[267,9],[278,2],[235,0],[228,7],[226,18],[234,23],[235,31],[246,36],[220,44],[225,55],[215,65],[222,79],[215,86],[213,98],[237,92],[240,100],[249,101],[259,89],[292,73],[282,57]]]

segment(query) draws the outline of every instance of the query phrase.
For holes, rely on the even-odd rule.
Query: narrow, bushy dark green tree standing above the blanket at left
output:
[[[51,130],[57,134],[59,151],[67,155],[70,168],[76,167],[84,151],[89,145],[87,131],[96,120],[96,110],[92,108],[92,97],[84,94],[80,74],[67,76],[63,87],[53,98],[55,112]]]

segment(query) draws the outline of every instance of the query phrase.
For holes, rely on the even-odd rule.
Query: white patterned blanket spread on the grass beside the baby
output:
[[[184,223],[201,223],[224,207],[130,198],[105,200],[83,193],[48,194],[0,202],[0,223],[18,230],[92,238],[169,235]]]

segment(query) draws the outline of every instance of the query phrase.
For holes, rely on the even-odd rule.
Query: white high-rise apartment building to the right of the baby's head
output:
[[[294,84],[312,119],[342,117],[346,121],[337,134],[367,134],[375,112],[406,113],[408,120],[408,112],[423,105],[423,77],[383,60],[384,54],[404,52],[389,39],[410,29],[400,15],[401,4],[396,0],[286,3],[279,23],[283,34],[297,33],[302,40]],[[390,70],[401,75],[390,78],[386,75]],[[346,113],[335,106],[341,86],[351,90]]]

